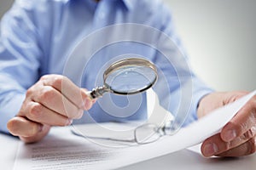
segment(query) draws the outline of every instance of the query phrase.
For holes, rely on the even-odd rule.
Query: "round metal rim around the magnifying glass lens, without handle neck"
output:
[[[112,74],[114,71],[118,71],[119,69],[122,69],[122,68],[125,68],[125,67],[130,67],[130,66],[144,66],[144,67],[148,67],[148,68],[151,68],[152,71],[154,71],[154,74],[155,74],[155,77],[154,77],[154,81],[151,82],[147,87],[145,88],[142,88],[142,89],[138,89],[136,91],[131,91],[131,92],[119,92],[119,91],[115,91],[113,90],[112,88],[110,88],[108,86],[108,84],[106,83],[106,80],[108,78],[108,76],[110,74]],[[151,88],[154,83],[157,81],[157,68],[156,66],[148,61],[147,59],[142,59],[142,58],[128,58],[128,59],[121,59],[115,63],[113,63],[112,65],[110,65],[108,67],[108,69],[106,71],[104,71],[104,74],[103,74],[103,80],[104,80],[104,86],[110,88],[110,90],[114,93],[114,94],[122,94],[122,95],[125,95],[125,94],[138,94],[138,93],[141,93],[145,90],[147,90],[148,88]]]

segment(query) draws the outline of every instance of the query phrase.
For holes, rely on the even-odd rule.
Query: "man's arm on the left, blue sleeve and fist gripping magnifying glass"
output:
[[[82,116],[93,101],[67,77],[40,78],[40,60],[47,56],[30,3],[17,1],[1,22],[0,130],[36,142],[51,126],[66,126]]]

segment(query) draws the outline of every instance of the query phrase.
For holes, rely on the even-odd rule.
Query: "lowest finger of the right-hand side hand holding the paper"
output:
[[[225,142],[220,137],[220,133],[213,135],[211,138],[206,139],[201,146],[201,152],[204,156],[218,155],[224,151],[231,150],[237,146],[246,143],[256,135],[256,128],[253,127],[247,133],[242,134],[240,137]]]

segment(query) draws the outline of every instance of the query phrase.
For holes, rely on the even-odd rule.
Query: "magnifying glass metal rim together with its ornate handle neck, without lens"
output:
[[[106,80],[110,74],[112,74],[114,71],[118,71],[119,69],[125,68],[125,67],[131,67],[131,66],[144,66],[151,68],[152,71],[154,71],[155,77],[153,82],[151,82],[147,87],[138,89],[136,91],[131,91],[131,92],[119,92],[116,90],[113,90],[109,85],[106,83]],[[103,74],[103,81],[104,85],[102,87],[97,87],[92,89],[92,91],[89,91],[87,94],[89,94],[90,99],[96,99],[101,97],[103,94],[106,92],[111,92],[113,94],[121,94],[121,95],[126,95],[126,94],[138,94],[141,93],[148,88],[151,88],[154,83],[157,81],[158,75],[157,75],[157,68],[156,66],[148,61],[147,59],[142,59],[142,58],[128,58],[128,59],[121,59],[113,63],[108,67],[106,71],[104,71]]]

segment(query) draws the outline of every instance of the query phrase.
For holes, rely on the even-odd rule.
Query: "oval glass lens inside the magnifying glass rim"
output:
[[[155,71],[142,65],[129,65],[111,72],[106,84],[119,94],[135,94],[151,87],[156,80]]]

